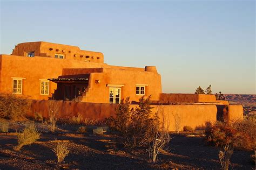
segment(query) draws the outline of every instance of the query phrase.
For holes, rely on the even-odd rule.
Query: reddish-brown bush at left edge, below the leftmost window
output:
[[[14,94],[0,93],[0,117],[19,121],[30,109],[31,102]]]

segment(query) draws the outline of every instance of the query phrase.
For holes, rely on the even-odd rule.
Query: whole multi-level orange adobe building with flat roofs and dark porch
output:
[[[212,112],[211,119],[215,120],[225,109],[233,117],[242,115],[240,105],[216,101],[214,95],[163,94],[161,76],[154,66],[111,66],[104,63],[103,53],[43,41],[24,42],[16,45],[10,55],[0,55],[0,93],[96,105],[120,103],[126,97],[136,103],[140,97],[151,95],[152,104],[172,104],[187,114],[203,114],[201,122],[207,119],[204,112]]]

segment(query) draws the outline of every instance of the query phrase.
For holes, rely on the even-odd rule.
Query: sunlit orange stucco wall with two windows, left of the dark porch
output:
[[[1,92],[12,93],[11,77],[22,77],[23,95],[37,100],[48,100],[54,93],[57,84],[50,82],[50,95],[40,95],[40,80],[58,77],[62,75],[63,68],[95,68],[103,67],[104,63],[84,62],[69,59],[43,58],[35,56],[28,58],[25,56],[0,55],[1,64]]]

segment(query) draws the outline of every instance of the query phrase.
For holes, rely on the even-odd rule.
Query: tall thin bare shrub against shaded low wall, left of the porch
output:
[[[58,105],[54,101],[49,101],[48,103],[48,109],[49,109],[49,128],[51,132],[55,132],[57,129],[57,120],[58,120]]]

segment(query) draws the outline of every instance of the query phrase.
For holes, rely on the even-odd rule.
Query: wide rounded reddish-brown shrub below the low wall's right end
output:
[[[254,145],[248,133],[239,131],[227,123],[217,122],[210,125],[205,133],[206,142],[215,146],[226,146],[232,143],[234,147],[251,150]]]

